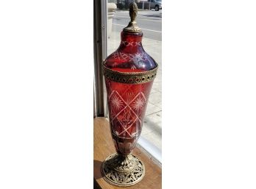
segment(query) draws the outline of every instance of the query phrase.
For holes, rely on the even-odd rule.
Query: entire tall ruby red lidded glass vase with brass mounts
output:
[[[102,175],[113,185],[129,186],[139,182],[145,168],[132,155],[141,135],[149,93],[157,73],[157,63],[142,46],[143,33],[135,17],[137,5],[130,5],[131,21],[121,32],[121,43],[104,60],[104,78],[111,135],[116,154],[102,164]]]

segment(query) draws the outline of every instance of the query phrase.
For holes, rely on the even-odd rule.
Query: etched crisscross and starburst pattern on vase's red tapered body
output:
[[[112,82],[107,82],[110,85]],[[147,84],[148,85],[148,84]],[[149,94],[145,95],[141,85],[123,85],[123,88],[110,87],[108,101],[110,103],[110,122],[113,134],[121,138],[136,138],[142,129],[143,116]],[[136,92],[137,91],[137,92]]]

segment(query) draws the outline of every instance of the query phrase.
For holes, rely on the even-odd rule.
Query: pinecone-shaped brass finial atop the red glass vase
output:
[[[138,7],[135,2],[129,4],[129,17],[131,18],[131,21],[129,22],[128,26],[126,26],[123,30],[125,32],[141,32],[141,28],[137,26],[137,22],[135,21],[135,18],[138,14]]]

